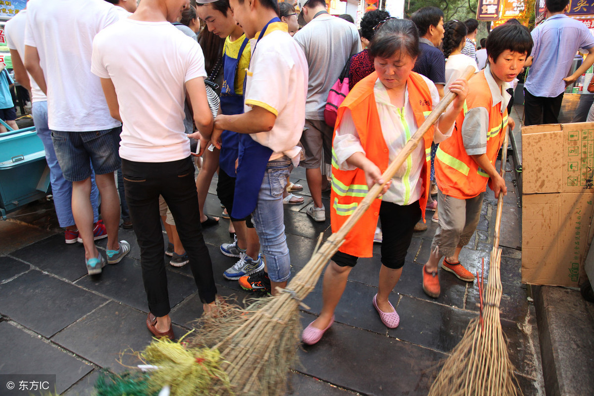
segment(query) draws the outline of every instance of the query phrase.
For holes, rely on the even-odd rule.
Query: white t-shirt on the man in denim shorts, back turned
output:
[[[122,14],[104,0],[31,0],[25,44],[36,47],[48,86],[51,130],[85,132],[120,125],[91,74],[93,38]]]

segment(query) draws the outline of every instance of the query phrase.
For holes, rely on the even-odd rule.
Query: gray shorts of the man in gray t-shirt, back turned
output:
[[[332,134],[334,130],[322,120],[305,120],[305,129],[301,135],[301,145],[305,159],[299,166],[306,169],[319,168],[324,163],[330,164],[332,158]]]

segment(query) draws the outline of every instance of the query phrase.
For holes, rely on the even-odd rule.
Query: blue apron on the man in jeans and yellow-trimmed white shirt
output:
[[[279,18],[273,18],[262,31],[256,44],[252,56],[255,53],[258,41],[264,37],[264,33],[268,25],[274,22],[280,22]],[[251,63],[251,59],[250,59]],[[244,80],[244,94],[248,76]],[[239,133],[239,166],[237,167],[237,177],[235,179],[235,194],[233,195],[233,210],[231,217],[235,219],[243,219],[252,212],[258,204],[258,194],[260,194],[260,187],[264,173],[266,172],[266,165],[268,159],[272,155],[272,149],[261,145],[249,136],[248,133]],[[244,161],[245,157],[245,161]]]

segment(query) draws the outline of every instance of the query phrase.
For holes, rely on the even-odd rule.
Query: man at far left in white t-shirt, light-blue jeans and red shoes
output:
[[[65,228],[65,242],[75,244],[78,239],[78,231],[72,216],[72,183],[64,178],[56,152],[53,150],[52,132],[48,128],[48,98],[39,89],[36,82],[30,78],[23,58],[25,55],[25,29],[27,25],[27,9],[21,10],[14,15],[4,27],[6,41],[12,58],[12,68],[14,69],[14,78],[19,84],[31,92],[31,113],[33,113],[33,123],[37,136],[43,142],[45,149],[45,158],[48,162],[50,181],[52,183],[53,205],[58,216],[58,223]],[[95,184],[94,176],[91,176],[91,206],[93,207],[93,221],[97,222],[99,218],[99,190]],[[102,234],[105,225],[99,224]]]

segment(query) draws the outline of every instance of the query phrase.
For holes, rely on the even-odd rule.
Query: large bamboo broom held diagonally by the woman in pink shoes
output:
[[[462,78],[469,79],[473,73],[474,69],[469,66]],[[429,114],[382,175],[385,183],[396,174],[455,96],[453,92],[445,95]],[[267,396],[285,392],[286,376],[295,359],[301,336],[298,307],[314,289],[324,266],[336,253],[347,233],[380,195],[385,183],[375,184],[339,231],[321,246],[320,235],[308,263],[287,288],[281,290],[280,295],[260,299],[245,309],[225,308],[225,314],[219,317],[203,317],[200,330],[189,338],[189,347],[206,346],[219,350],[222,356],[220,369],[228,375],[227,384],[232,384],[229,387],[226,381],[215,380],[210,394]]]

